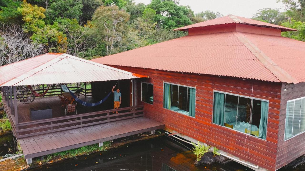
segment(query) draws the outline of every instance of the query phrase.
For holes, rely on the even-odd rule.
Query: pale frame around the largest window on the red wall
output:
[[[219,92],[219,93],[228,94],[228,95],[232,95],[232,96],[238,96],[238,97],[244,97],[244,98],[251,99],[251,118],[252,118],[252,103],[253,103],[252,101],[253,101],[253,99],[254,99],[254,100],[260,100],[260,101],[265,101],[265,102],[268,102],[268,110],[267,110],[267,125],[266,125],[266,129],[268,128],[268,117],[269,117],[269,100],[266,100],[266,99],[260,99],[260,98],[256,98],[256,97],[250,97],[250,96],[244,96],[244,95],[239,95],[239,94],[234,94],[234,93],[230,93],[230,92],[223,92],[223,91],[213,90],[213,103],[214,103],[214,92]],[[212,107],[212,124],[215,124],[215,123],[213,123],[213,117],[214,117],[214,104],[213,104],[213,107]],[[252,120],[252,119],[251,119],[251,120]],[[218,125],[218,124],[215,124],[215,125]],[[251,125],[252,125],[252,124],[251,124]],[[251,136],[251,137],[258,138],[258,139],[260,139],[260,140],[267,141],[267,130],[266,130],[266,139],[263,139],[263,138],[260,138],[260,137],[252,136],[252,135],[247,134],[247,133],[242,132],[242,131],[238,131],[238,130],[235,130],[235,129],[231,129],[231,128],[228,128],[228,127],[222,126],[222,125],[218,125],[218,126],[221,126],[221,127],[224,127],[224,128],[230,129],[230,130],[234,130],[234,131],[237,131],[237,132],[239,132],[239,133],[246,134],[246,135],[249,135],[249,136]]]

